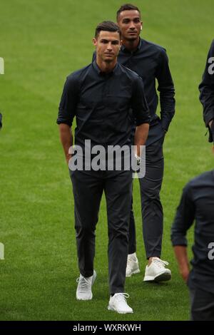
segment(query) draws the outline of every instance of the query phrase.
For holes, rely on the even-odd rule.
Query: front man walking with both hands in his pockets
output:
[[[136,118],[135,144],[140,155],[148,135],[150,120],[143,93],[143,82],[133,71],[117,63],[121,32],[111,21],[96,28],[93,38],[96,61],[68,76],[61,98],[57,123],[66,159],[72,145],[71,124],[76,116],[75,145],[86,153],[85,141],[91,148],[110,145],[131,146],[130,109]],[[70,163],[69,163],[70,166]],[[103,191],[108,213],[108,274],[111,298],[108,309],[132,313],[126,302],[124,284],[128,255],[128,224],[131,208],[132,170],[70,171],[75,202],[75,228],[80,277],[76,298],[92,299],[91,286],[96,279],[93,269],[95,230]]]

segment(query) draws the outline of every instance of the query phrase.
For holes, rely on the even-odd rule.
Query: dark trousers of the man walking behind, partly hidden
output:
[[[163,138],[146,146],[146,174],[139,178],[141,188],[141,212],[143,240],[146,258],[161,257],[163,237],[163,207],[160,192],[163,182]],[[136,252],[136,227],[131,206],[128,254]]]

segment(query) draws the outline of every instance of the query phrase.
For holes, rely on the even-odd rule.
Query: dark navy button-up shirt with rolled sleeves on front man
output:
[[[76,116],[76,145],[122,146],[131,142],[131,110],[137,125],[150,122],[141,77],[118,63],[102,73],[94,61],[68,76],[57,123],[71,126]]]

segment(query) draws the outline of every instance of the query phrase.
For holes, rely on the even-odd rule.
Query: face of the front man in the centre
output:
[[[121,48],[121,38],[118,32],[101,31],[97,38],[93,38],[96,46],[96,56],[106,63],[116,60]]]

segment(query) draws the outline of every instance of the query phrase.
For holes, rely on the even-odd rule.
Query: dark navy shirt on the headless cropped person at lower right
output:
[[[187,245],[185,236],[194,221],[193,269],[188,285],[214,293],[214,170],[184,187],[171,230],[173,246]]]

